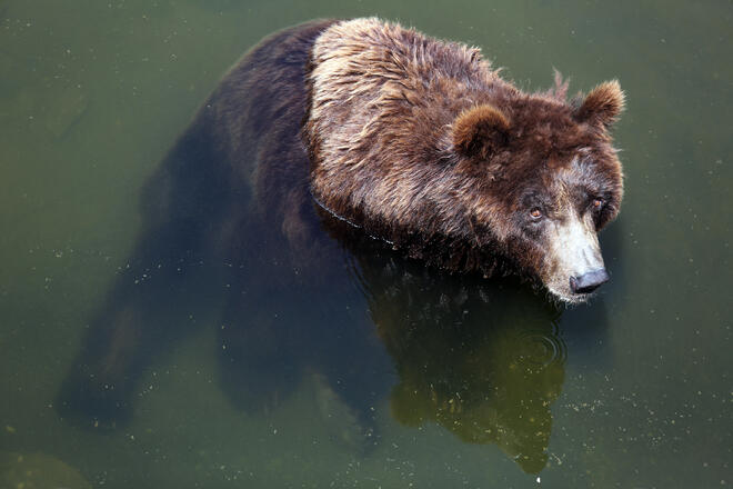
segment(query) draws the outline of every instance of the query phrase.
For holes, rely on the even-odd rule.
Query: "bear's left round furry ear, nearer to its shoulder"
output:
[[[509,118],[494,106],[464,110],[453,121],[453,147],[464,156],[486,158],[506,144]]]

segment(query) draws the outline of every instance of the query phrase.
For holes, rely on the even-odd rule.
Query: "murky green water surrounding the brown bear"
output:
[[[275,29],[365,14],[481,46],[528,89],[553,68],[571,90],[621,81],[626,194],[601,237],[600,298],[555,311],[501,285],[458,300],[450,281],[403,290],[418,309],[379,280],[339,290],[373,328],[360,331],[369,355],[323,347],[337,369],[376,372],[366,442],[302,362],[278,402],[235,402],[217,307],[203,307],[215,298],[140,372],[127,422],[61,416],[139,238],[140,189],[221,73]],[[0,0],[0,487],[20,480],[9,453],[110,488],[730,486],[731,33],[730,1]],[[462,311],[456,335],[445,325]]]

